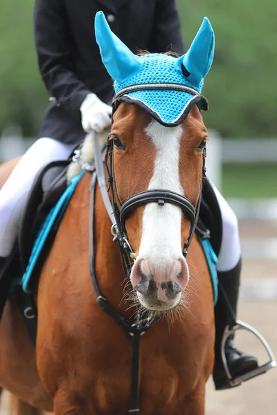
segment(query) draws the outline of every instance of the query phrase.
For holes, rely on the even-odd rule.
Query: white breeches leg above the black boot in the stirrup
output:
[[[234,268],[240,259],[240,235],[238,231],[238,219],[222,194],[210,181],[215,191],[222,216],[222,242],[218,255],[217,271],[229,271]]]

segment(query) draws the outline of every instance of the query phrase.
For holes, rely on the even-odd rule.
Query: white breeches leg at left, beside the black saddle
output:
[[[0,257],[8,257],[12,251],[21,214],[39,170],[52,161],[66,160],[74,147],[53,138],[39,138],[21,158],[0,190]]]

